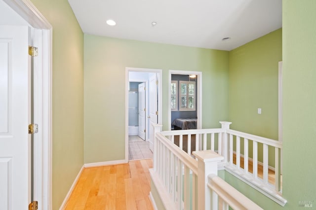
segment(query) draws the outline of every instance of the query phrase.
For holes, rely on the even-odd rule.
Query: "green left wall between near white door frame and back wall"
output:
[[[53,210],[83,165],[83,33],[67,0],[32,0],[53,26]]]

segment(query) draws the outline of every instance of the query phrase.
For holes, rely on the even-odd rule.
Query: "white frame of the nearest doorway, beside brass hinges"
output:
[[[30,0],[4,0],[34,28],[34,45],[40,48],[34,59],[34,200],[39,209],[52,209],[52,26]]]

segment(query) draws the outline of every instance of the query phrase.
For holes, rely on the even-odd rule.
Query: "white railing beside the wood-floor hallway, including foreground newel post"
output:
[[[157,126],[156,129],[158,131],[161,127]],[[223,201],[226,202],[227,208],[239,207],[239,198],[236,196],[240,196],[240,193],[234,194],[227,201],[227,197],[215,188],[210,190],[208,185],[211,183],[208,175],[217,175],[218,163],[224,159],[223,156],[212,150],[201,150],[193,152],[196,157],[194,159],[166,139],[162,133],[155,135],[154,170],[150,171],[165,209],[217,210]],[[229,186],[228,183],[226,185]],[[260,209],[250,200],[243,201],[244,207]]]

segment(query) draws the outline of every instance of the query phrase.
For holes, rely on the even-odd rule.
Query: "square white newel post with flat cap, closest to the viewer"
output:
[[[208,189],[207,176],[209,174],[217,175],[217,164],[224,157],[211,150],[194,151],[193,154],[197,157],[197,209],[210,210],[211,206],[217,209],[217,195],[212,195]]]

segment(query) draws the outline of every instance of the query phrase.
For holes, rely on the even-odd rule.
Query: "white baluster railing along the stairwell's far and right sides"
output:
[[[226,171],[237,176],[239,179],[245,181],[252,187],[256,188],[269,198],[276,201],[276,203],[278,203],[279,205],[284,206],[286,204],[286,200],[282,197],[281,194],[280,174],[280,151],[282,149],[282,142],[231,130],[231,122],[223,121],[220,123],[222,124],[222,128],[216,129],[175,130],[163,132],[159,132],[160,130],[158,129],[156,131],[159,132],[161,136],[165,137],[164,140],[169,140],[172,145],[175,145],[175,143],[177,143],[178,147],[181,150],[186,147],[186,153],[188,155],[194,154],[192,150],[199,151],[210,149],[212,151],[218,152],[219,155],[222,155],[224,157],[224,159],[218,165],[220,169],[224,169],[225,166]],[[243,152],[241,150],[242,141]],[[191,149],[192,142],[195,143],[195,149]],[[253,146],[253,154],[249,155],[248,147],[251,144]],[[159,148],[158,151],[156,151],[156,148]],[[271,149],[275,151],[274,157],[271,156],[271,152],[271,157],[269,157],[269,150]],[[167,157],[165,158],[169,158],[170,155],[168,152],[169,151],[167,151],[165,148],[156,147],[155,145],[154,160],[157,160],[158,154],[162,154],[162,156],[167,155]],[[260,160],[262,159],[262,162],[258,160],[258,154],[262,156],[262,158],[260,158]],[[236,157],[235,161],[234,156]],[[171,157],[173,156],[171,155]],[[243,167],[240,165],[240,160],[242,158]],[[270,163],[275,163],[274,166],[272,166],[272,164],[269,165],[269,158]],[[274,161],[272,161],[271,158],[274,158]],[[169,158],[168,160],[171,159]],[[252,161],[252,172],[251,170],[249,171],[248,167],[250,161]],[[168,164],[167,162],[164,163]],[[156,167],[165,167],[165,165],[163,165],[161,161],[160,165],[156,166],[155,164],[156,163],[154,161],[155,169],[157,169]],[[263,171],[262,178],[258,176],[258,165],[262,165],[262,167],[260,166]],[[192,169],[190,170],[192,171]],[[269,170],[275,172],[274,183],[269,183]],[[164,177],[167,177],[165,172],[161,173],[163,173]]]

